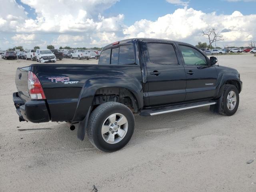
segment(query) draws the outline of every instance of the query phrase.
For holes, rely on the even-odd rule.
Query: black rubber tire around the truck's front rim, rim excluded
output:
[[[229,110],[227,106],[227,97],[230,91],[234,91],[236,94],[236,106],[233,110]],[[234,85],[225,85],[220,105],[219,114],[226,115],[226,116],[232,116],[236,113],[239,105],[239,93]]]

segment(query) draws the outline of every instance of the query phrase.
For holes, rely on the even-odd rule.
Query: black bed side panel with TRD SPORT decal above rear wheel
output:
[[[126,88],[143,104],[142,75],[138,65],[35,64],[31,70],[44,88],[52,121],[82,120],[96,90],[103,87]],[[75,83],[65,84],[54,79],[63,77]]]

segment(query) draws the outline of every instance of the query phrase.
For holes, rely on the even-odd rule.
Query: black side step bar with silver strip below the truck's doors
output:
[[[140,112],[140,116],[153,116],[165,113],[171,113],[176,111],[182,111],[186,109],[210,106],[216,104],[213,100],[208,101],[199,101],[199,102],[189,102],[183,104],[174,104],[169,106],[162,106],[162,107],[154,107],[154,108],[146,108]]]

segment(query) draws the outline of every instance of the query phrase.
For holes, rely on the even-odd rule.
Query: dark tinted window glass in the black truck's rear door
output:
[[[148,54],[151,62],[178,65],[178,59],[172,44],[148,43]]]

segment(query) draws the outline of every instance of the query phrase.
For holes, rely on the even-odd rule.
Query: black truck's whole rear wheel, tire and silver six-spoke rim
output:
[[[106,102],[90,115],[87,135],[96,148],[112,152],[129,142],[134,126],[134,116],[127,106],[118,102]]]

